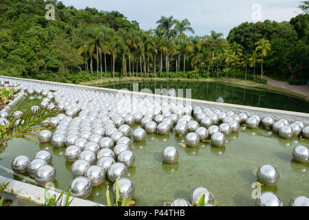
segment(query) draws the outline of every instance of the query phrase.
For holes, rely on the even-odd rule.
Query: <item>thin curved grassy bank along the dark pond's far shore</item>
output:
[[[120,78],[100,78],[98,80],[92,80],[86,83],[80,83],[80,85],[89,85],[89,86],[96,86],[96,85],[103,85],[105,83],[126,83],[126,82],[136,82],[136,81],[167,81],[167,78],[141,78],[141,77],[123,77],[121,80]],[[282,79],[281,79],[282,80]],[[295,91],[290,91],[290,89],[283,89],[281,87],[275,87],[273,85],[256,83],[253,80],[241,80],[238,78],[200,78],[200,79],[188,79],[188,78],[169,78],[169,81],[182,81],[182,82],[192,82],[192,81],[199,81],[199,82],[218,82],[218,83],[228,83],[234,84],[241,87],[250,87],[254,89],[260,90],[268,90],[275,92],[277,94],[284,94],[286,96],[292,96],[295,98],[299,98],[301,100],[305,100],[309,102],[309,94],[305,96],[303,94],[299,94]]]

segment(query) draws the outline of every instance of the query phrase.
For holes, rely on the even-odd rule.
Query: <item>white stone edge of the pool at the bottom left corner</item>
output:
[[[12,195],[13,197],[18,197],[20,199],[25,199],[26,201],[30,201],[31,203],[35,203],[39,206],[44,205],[45,188],[34,186],[32,184],[26,184],[22,181],[17,181],[0,175],[0,183],[2,182],[4,182],[5,184],[8,182],[10,183],[8,184],[8,187],[4,190],[4,192],[8,195]],[[50,195],[53,194],[55,194],[56,198],[58,198],[61,193],[50,190]],[[66,194],[63,195],[63,198],[65,198],[65,196]],[[70,206],[104,206],[94,201],[70,197],[70,201],[72,199],[73,201]]]

